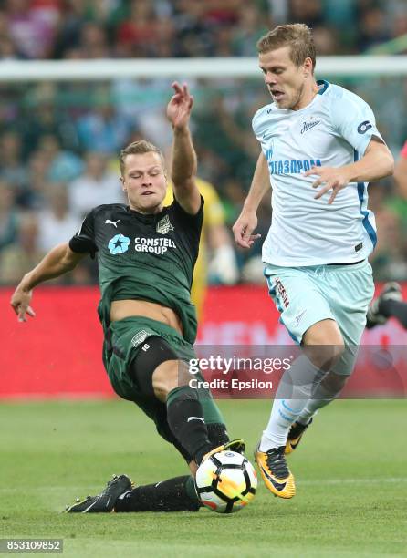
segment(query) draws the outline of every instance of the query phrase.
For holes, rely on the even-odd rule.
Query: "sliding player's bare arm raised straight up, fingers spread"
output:
[[[167,106],[167,117],[172,123],[172,171],[174,196],[183,209],[195,214],[201,207],[201,195],[196,186],[196,153],[189,128],[193,96],[188,86],[172,83],[174,95]]]

